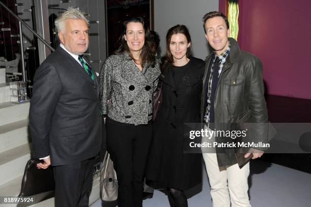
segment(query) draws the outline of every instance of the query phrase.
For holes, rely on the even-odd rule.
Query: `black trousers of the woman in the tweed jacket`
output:
[[[113,161],[119,186],[118,207],[140,207],[152,123],[138,126],[118,123],[106,120],[107,151]]]

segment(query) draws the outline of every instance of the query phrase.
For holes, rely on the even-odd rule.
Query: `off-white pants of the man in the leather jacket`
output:
[[[230,201],[232,207],[251,207],[247,194],[250,163],[248,162],[241,169],[238,164],[220,169],[216,153],[203,153],[203,159],[213,207],[230,207]]]

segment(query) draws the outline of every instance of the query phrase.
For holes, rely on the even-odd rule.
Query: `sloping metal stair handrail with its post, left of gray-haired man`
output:
[[[48,42],[46,42],[35,30],[33,30],[30,26],[28,26],[21,18],[19,18],[13,11],[11,11],[4,3],[0,2],[0,5],[5,8],[12,16],[17,19],[19,25],[19,38],[20,38],[20,50],[21,50],[21,66],[22,66],[22,76],[23,81],[26,81],[25,77],[25,65],[24,65],[24,51],[23,51],[23,36],[21,24],[23,24],[27,29],[29,29],[47,48],[49,48],[52,52],[54,52],[54,48],[50,46]]]

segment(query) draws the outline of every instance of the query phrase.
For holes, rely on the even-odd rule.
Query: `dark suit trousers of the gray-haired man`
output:
[[[74,164],[53,166],[56,207],[88,206],[94,164],[95,157]]]

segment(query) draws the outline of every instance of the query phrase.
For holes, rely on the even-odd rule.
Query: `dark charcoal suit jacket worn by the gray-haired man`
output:
[[[29,122],[34,158],[64,165],[96,156],[103,138],[97,77],[58,47],[36,71]]]

